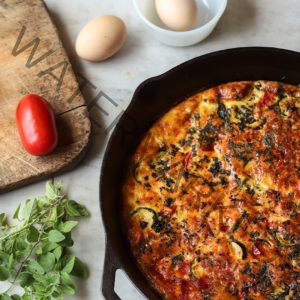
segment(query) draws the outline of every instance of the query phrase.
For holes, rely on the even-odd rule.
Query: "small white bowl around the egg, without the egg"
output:
[[[199,21],[194,29],[174,31],[158,17],[154,0],[133,0],[138,16],[149,33],[160,42],[174,47],[190,46],[204,40],[215,28],[225,11],[227,0],[197,0]]]

